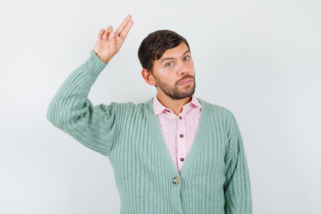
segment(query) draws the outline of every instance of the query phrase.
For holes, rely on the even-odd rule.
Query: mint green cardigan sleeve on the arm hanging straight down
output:
[[[225,158],[225,213],[252,214],[252,196],[242,134],[234,115],[230,120],[228,150]]]

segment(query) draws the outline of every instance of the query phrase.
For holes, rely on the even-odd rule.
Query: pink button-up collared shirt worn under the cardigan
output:
[[[194,141],[202,106],[194,94],[178,115],[160,103],[156,94],[152,104],[170,157],[179,172]]]

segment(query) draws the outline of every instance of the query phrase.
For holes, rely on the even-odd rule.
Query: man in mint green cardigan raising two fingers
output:
[[[242,135],[229,110],[193,95],[184,37],[155,31],[139,47],[142,76],[157,89],[148,102],[93,106],[87,98],[132,25],[128,15],[115,32],[99,31],[89,59],[54,95],[48,120],[110,159],[121,213],[252,213]]]

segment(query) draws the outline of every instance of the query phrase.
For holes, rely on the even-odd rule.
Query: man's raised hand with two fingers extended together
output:
[[[112,26],[108,26],[106,30],[101,29],[99,31],[98,39],[93,51],[104,63],[108,63],[122,47],[133,24],[134,21],[131,20],[131,15],[127,15],[115,32],[113,32]]]

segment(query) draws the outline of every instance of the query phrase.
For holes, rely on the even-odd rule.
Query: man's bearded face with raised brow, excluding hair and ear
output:
[[[185,43],[165,51],[154,61],[152,76],[157,92],[173,100],[188,98],[195,91],[195,71],[191,53]]]

